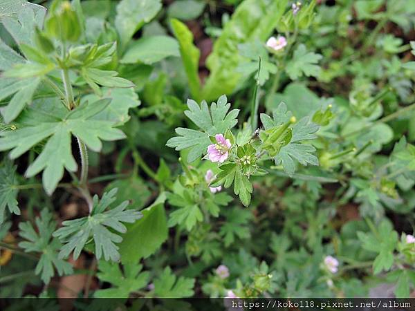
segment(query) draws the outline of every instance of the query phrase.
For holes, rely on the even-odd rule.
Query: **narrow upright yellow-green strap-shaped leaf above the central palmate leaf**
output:
[[[189,82],[190,93],[199,101],[201,100],[201,82],[199,79],[199,57],[201,52],[199,48],[194,46],[192,32],[184,23],[178,21],[178,19],[172,19],[170,23],[174,37],[178,40],[183,66],[185,67],[187,81]]]

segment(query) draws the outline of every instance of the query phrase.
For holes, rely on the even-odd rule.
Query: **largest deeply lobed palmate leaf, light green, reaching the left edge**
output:
[[[64,118],[57,118],[56,122],[44,122],[15,131],[3,131],[0,133],[0,151],[12,149],[10,158],[14,159],[48,138],[42,153],[28,167],[26,176],[35,176],[44,170],[42,176],[44,189],[48,194],[52,194],[64,175],[64,168],[68,171],[77,169],[71,151],[71,133],[93,151],[100,151],[101,140],[124,138],[122,131],[113,128],[113,122],[93,120],[93,116],[105,109],[109,102],[110,100],[103,99],[92,104],[84,103],[68,112]]]

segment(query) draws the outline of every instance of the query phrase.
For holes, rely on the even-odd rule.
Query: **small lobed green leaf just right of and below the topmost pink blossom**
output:
[[[300,44],[294,51],[293,58],[286,65],[286,73],[292,80],[306,75],[306,77],[318,77],[320,66],[316,65],[322,59],[322,55],[307,52],[306,46]]]

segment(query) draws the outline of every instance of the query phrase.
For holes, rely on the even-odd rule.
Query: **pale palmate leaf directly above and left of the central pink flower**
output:
[[[188,162],[193,162],[199,158],[206,152],[208,145],[212,143],[209,136],[223,134],[237,124],[239,109],[232,109],[228,113],[230,104],[227,102],[226,96],[222,95],[219,97],[217,104],[212,102],[209,109],[205,101],[201,102],[199,106],[194,100],[187,100],[189,110],[185,111],[185,115],[202,131],[178,127],[176,133],[180,136],[170,138],[166,145],[176,150],[190,148],[187,156]]]

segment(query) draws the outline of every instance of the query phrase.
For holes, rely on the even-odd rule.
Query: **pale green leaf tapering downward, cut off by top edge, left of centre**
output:
[[[161,0],[122,0],[117,6],[116,28],[122,46],[161,9]]]

